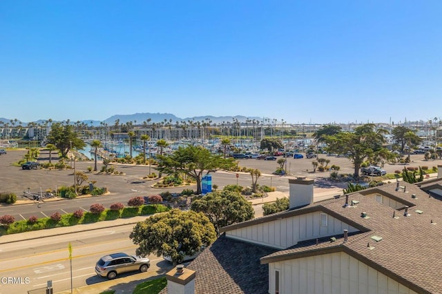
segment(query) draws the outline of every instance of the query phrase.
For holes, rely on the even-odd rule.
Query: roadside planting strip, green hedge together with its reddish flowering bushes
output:
[[[12,215],[0,216],[0,236],[23,233],[28,231],[43,230],[46,228],[57,228],[63,226],[75,226],[77,224],[91,224],[106,220],[119,219],[124,217],[135,217],[138,215],[153,215],[169,210],[162,204],[143,204],[142,197],[135,197],[128,202],[129,207],[124,207],[122,203],[112,204],[110,208],[104,208],[102,204],[93,204],[89,211],[75,210],[74,213],[60,215],[54,213],[50,217],[30,217],[15,221]],[[143,203],[142,203],[143,202]]]

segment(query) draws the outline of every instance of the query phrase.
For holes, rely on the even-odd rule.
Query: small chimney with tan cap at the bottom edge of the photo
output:
[[[184,268],[178,264],[175,268],[166,273],[167,293],[169,294],[194,294],[195,293],[195,271]]]

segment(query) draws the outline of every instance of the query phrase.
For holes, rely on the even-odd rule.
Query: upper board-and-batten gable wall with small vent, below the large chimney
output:
[[[349,233],[358,231],[330,215],[327,215],[327,226],[321,226],[320,214],[320,212],[306,213],[237,228],[227,231],[226,237],[285,249],[300,241],[342,235],[344,229],[347,229]]]

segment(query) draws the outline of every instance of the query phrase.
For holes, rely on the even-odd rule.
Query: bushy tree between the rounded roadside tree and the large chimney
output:
[[[251,204],[240,193],[227,190],[204,195],[192,202],[191,210],[209,217],[217,234],[223,226],[253,219],[255,215]]]

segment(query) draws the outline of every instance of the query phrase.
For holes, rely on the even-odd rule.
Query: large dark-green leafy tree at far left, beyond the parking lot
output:
[[[86,143],[77,137],[72,125],[59,122],[52,124],[48,135],[48,143],[57,146],[62,157],[66,157],[68,154],[71,142],[75,149],[83,149],[86,146]]]

